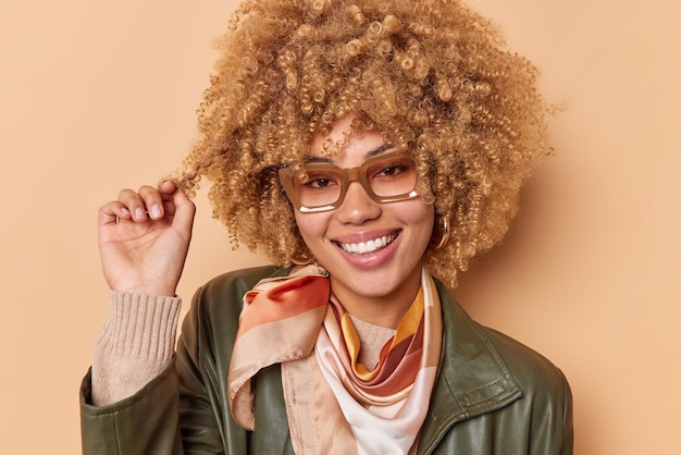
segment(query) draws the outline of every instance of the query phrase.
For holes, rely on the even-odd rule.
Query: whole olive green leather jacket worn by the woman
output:
[[[294,454],[280,366],[253,380],[256,431],[236,425],[227,371],[242,297],[264,267],[201,287],[184,320],[174,365],[135,395],[96,407],[89,373],[81,390],[83,453]],[[441,371],[419,435],[419,454],[572,454],[572,407],[564,374],[522,344],[469,318],[437,283],[443,307]]]

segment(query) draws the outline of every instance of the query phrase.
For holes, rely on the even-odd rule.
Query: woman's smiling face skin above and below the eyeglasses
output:
[[[339,153],[322,158],[324,142],[338,144],[352,118],[339,120],[326,136],[314,136],[310,158],[347,169],[394,151],[388,147],[377,152],[386,144],[380,132],[371,131],[352,134]],[[308,248],[329,271],[335,295],[350,313],[361,318],[361,311],[352,308],[370,300],[408,308],[421,284],[422,257],[433,231],[432,206],[418,196],[376,202],[359,182],[351,182],[338,208],[313,213],[296,210],[295,217]]]

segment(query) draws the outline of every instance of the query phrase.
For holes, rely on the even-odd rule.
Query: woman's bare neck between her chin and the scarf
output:
[[[330,276],[331,290],[351,316],[372,324],[397,329],[421,288],[421,269],[385,295],[358,294]]]

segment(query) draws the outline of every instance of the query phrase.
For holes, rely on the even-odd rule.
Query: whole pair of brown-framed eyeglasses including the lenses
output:
[[[419,194],[417,167],[408,150],[397,150],[367,160],[359,168],[342,169],[326,162],[309,162],[298,171],[278,171],[286,195],[304,213],[340,207],[348,186],[359,182],[376,202],[411,199]]]

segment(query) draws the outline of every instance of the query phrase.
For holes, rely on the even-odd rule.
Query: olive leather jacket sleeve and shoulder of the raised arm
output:
[[[240,309],[231,300],[242,291],[200,288],[173,361],[134,395],[95,406],[88,372],[81,389],[84,455],[247,453],[247,432],[232,420],[223,389]]]

